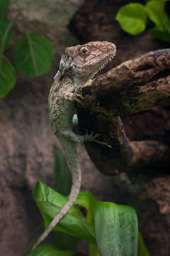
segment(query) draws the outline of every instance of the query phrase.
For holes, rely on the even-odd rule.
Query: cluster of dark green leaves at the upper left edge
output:
[[[0,99],[16,85],[16,68],[29,78],[42,75],[50,68],[54,55],[47,38],[26,29],[13,48],[14,65],[6,58],[5,52],[14,40],[13,23],[6,18],[9,3],[9,0],[0,0]],[[20,9],[19,14],[24,18]]]

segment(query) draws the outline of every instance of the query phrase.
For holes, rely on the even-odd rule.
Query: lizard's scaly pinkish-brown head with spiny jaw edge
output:
[[[60,72],[64,73],[71,69],[74,85],[79,87],[94,78],[98,70],[112,60],[115,51],[115,44],[107,41],[94,41],[82,46],[68,47],[60,61]]]

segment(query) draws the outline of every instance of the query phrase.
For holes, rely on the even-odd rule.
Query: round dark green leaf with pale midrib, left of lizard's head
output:
[[[13,52],[16,68],[33,78],[47,72],[54,50],[50,41],[38,33],[26,33],[16,43]]]

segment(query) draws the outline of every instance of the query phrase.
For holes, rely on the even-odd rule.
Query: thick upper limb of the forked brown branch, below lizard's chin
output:
[[[111,115],[134,114],[155,106],[170,105],[170,49],[145,53],[128,60],[88,82],[84,96],[90,95],[95,107]]]

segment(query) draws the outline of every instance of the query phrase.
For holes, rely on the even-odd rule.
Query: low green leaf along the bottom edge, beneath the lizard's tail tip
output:
[[[74,251],[58,250],[55,245],[46,243],[28,252],[25,256],[72,256],[75,255],[75,253]]]

